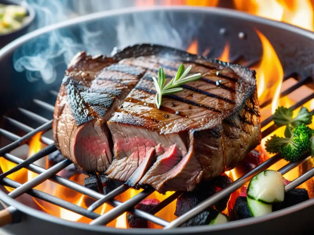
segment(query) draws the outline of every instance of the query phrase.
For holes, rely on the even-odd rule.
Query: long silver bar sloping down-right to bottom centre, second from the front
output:
[[[23,162],[22,159],[15,157],[12,154],[4,154],[4,158],[11,161],[11,162],[16,163],[16,164]],[[49,169],[46,170],[46,169],[44,169],[40,166],[34,165],[34,164],[30,164],[25,168],[27,170],[31,170],[37,174],[41,174],[41,173],[49,170]],[[89,196],[91,198],[94,198],[96,200],[99,200],[104,196],[104,195],[102,195],[96,191],[93,191],[89,188],[84,187],[83,185],[80,185],[78,183],[73,182],[72,180],[68,180],[68,179],[63,178],[63,177],[58,176],[58,175],[53,175],[49,180],[52,180],[53,182],[56,182],[57,184],[65,186],[69,189],[72,189],[78,193],[82,193],[82,194]],[[122,202],[116,201],[116,200],[109,200],[106,203],[109,204],[110,206],[119,206],[122,204]],[[169,222],[167,222],[167,221],[165,221],[159,217],[156,217],[154,215],[151,215],[149,213],[143,212],[143,211],[138,210],[138,209],[128,209],[127,212],[130,214],[133,214],[137,217],[149,220],[150,222],[153,222],[153,223],[161,225],[161,226],[165,226],[167,223],[169,223]]]

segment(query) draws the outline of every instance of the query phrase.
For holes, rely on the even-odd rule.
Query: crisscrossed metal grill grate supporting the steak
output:
[[[237,60],[237,58],[235,60]],[[245,66],[251,66],[251,65],[254,65],[256,63],[257,63],[256,60],[252,60],[252,61],[247,62]],[[307,78],[306,79],[300,79],[300,81],[298,81],[295,85],[293,85],[290,88],[283,91],[280,94],[280,97],[284,97],[284,96],[290,94],[292,91],[295,91],[296,89],[298,89],[302,85],[305,85],[307,82],[309,82],[309,80]],[[50,93],[53,96],[57,96],[58,92],[57,91],[50,91]],[[302,106],[306,102],[310,101],[313,98],[314,98],[314,93],[312,93],[311,95],[307,96],[306,98],[300,100],[299,102],[297,102],[295,105],[293,105],[290,108],[294,110],[294,109]],[[44,101],[41,101],[38,99],[34,99],[34,103],[37,106],[44,108],[48,111],[53,112],[53,110],[54,110],[54,106],[47,103],[47,102],[44,102]],[[260,107],[266,107],[270,103],[271,103],[271,100],[268,100],[268,101],[264,102],[263,104],[261,104]],[[181,217],[178,217],[177,219],[175,219],[172,222],[167,222],[160,217],[154,216],[154,214],[156,212],[160,211],[162,208],[164,208],[169,203],[171,203],[173,200],[175,200],[178,196],[180,196],[182,194],[182,192],[175,192],[171,196],[167,197],[165,200],[161,201],[158,205],[154,206],[154,208],[152,208],[149,212],[143,212],[141,210],[135,209],[134,206],[136,206],[140,201],[142,201],[144,198],[146,198],[147,196],[152,194],[154,192],[153,189],[145,189],[142,192],[138,193],[136,196],[133,196],[129,200],[122,203],[120,201],[114,200],[113,198],[115,198],[119,194],[127,191],[129,189],[129,186],[127,186],[127,185],[121,185],[120,187],[111,191],[107,195],[103,195],[103,194],[100,194],[100,193],[93,191],[89,188],[86,188],[83,185],[80,185],[80,184],[75,183],[71,180],[68,180],[66,178],[63,178],[61,176],[56,175],[59,171],[63,170],[65,167],[72,164],[68,159],[63,160],[62,162],[52,166],[48,170],[46,170],[46,169],[44,169],[38,165],[35,165],[34,164],[35,161],[37,161],[38,159],[41,159],[41,158],[45,157],[46,155],[51,154],[54,151],[56,151],[56,147],[54,146],[53,140],[50,138],[47,138],[47,137],[42,135],[41,136],[41,142],[44,144],[47,144],[48,146],[46,148],[42,149],[41,151],[39,151],[38,153],[34,154],[33,156],[31,156],[30,158],[26,159],[26,160],[20,159],[20,158],[14,156],[12,154],[9,154],[10,151],[12,151],[12,150],[16,149],[17,147],[21,146],[22,144],[26,143],[26,141],[28,141],[30,138],[32,138],[36,133],[38,133],[38,132],[44,132],[45,133],[47,130],[51,129],[52,120],[46,119],[46,118],[44,118],[44,117],[42,117],[42,116],[40,116],[34,112],[26,110],[24,108],[18,108],[18,110],[22,115],[24,115],[24,116],[42,124],[42,125],[40,127],[34,129],[34,128],[31,128],[31,127],[25,125],[24,123],[21,123],[15,119],[13,119],[13,118],[4,117],[13,126],[15,126],[16,128],[18,128],[20,130],[23,130],[24,132],[27,133],[23,137],[20,137],[14,133],[11,133],[7,130],[0,128],[0,134],[5,136],[9,140],[13,141],[11,144],[8,144],[7,146],[0,149],[0,156],[3,156],[5,159],[7,159],[7,160],[9,160],[15,164],[18,164],[13,169],[9,170],[8,172],[4,172],[2,175],[0,175],[1,184],[15,188],[15,190],[11,191],[8,194],[8,196],[10,196],[12,198],[16,198],[16,197],[26,193],[26,194],[29,194],[29,195],[35,197],[35,198],[41,199],[43,201],[47,201],[47,202],[52,203],[54,205],[65,208],[69,211],[80,214],[84,217],[93,219],[93,221],[90,222],[90,224],[95,224],[95,225],[108,224],[109,222],[111,222],[112,220],[117,218],[118,216],[122,215],[124,212],[128,212],[128,213],[133,214],[137,217],[140,217],[140,218],[146,219],[150,222],[153,222],[155,224],[161,225],[165,229],[179,227],[181,224],[188,221],[190,218],[194,217],[198,213],[202,212],[207,207],[212,206],[216,202],[225,198],[226,196],[229,196],[232,192],[236,191],[238,188],[240,188],[242,185],[244,185],[248,180],[250,180],[253,175],[257,174],[258,172],[260,172],[262,170],[268,169],[271,165],[273,165],[274,163],[278,162],[281,159],[280,154],[276,154],[272,158],[270,158],[267,161],[263,162],[262,164],[258,165],[256,168],[254,168],[253,170],[251,170],[247,174],[245,174],[242,177],[240,177],[239,179],[235,180],[228,187],[224,188],[223,190],[219,191],[215,195],[213,195],[213,196],[209,197],[208,199],[206,199],[205,201],[201,202],[200,204],[198,204],[196,207],[194,207],[192,210],[188,211],[187,213],[185,213]],[[311,112],[314,113],[314,110],[312,110]],[[261,123],[262,127],[269,124],[271,122],[271,120],[272,120],[272,116],[267,118],[266,120],[264,120]],[[271,125],[270,127],[268,127],[267,129],[265,129],[263,131],[262,137],[263,138],[266,137],[267,135],[269,135],[270,133],[272,133],[275,130],[276,130],[276,126]],[[284,167],[282,167],[278,171],[284,175],[285,173],[289,172],[290,170],[292,170],[296,166],[304,163],[309,158],[310,158],[310,156],[306,155],[306,156],[304,156],[304,159],[302,159],[298,162],[288,163],[287,165],[285,165]],[[35,172],[39,175],[37,175],[36,177],[34,177],[33,179],[29,180],[28,182],[26,182],[24,184],[20,184],[16,181],[11,180],[11,179],[6,177],[6,176],[16,172],[17,170],[19,170],[21,168],[25,168],[25,169],[30,170],[32,172]],[[306,180],[310,179],[313,176],[314,176],[314,168],[309,170],[305,174],[301,175],[297,179],[293,180],[288,185],[286,185],[285,190],[290,191],[291,189],[302,184],[303,182],[305,182]],[[56,196],[52,196],[48,193],[34,189],[35,186],[39,185],[40,183],[44,182],[45,180],[51,180],[51,181],[53,181],[59,185],[63,185],[63,186],[65,186],[69,189],[72,189],[78,193],[81,193],[85,196],[88,196],[92,199],[95,199],[96,201],[93,204],[91,204],[88,207],[88,209],[85,209],[85,208],[78,206],[78,205],[75,205],[71,202],[62,200]],[[113,206],[114,208],[111,209],[109,212],[103,214],[103,215],[95,213],[94,212],[95,209],[102,206],[105,202],[108,203],[110,206]]]

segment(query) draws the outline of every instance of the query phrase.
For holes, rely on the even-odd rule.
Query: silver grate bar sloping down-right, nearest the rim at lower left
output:
[[[5,186],[9,186],[11,188],[18,188],[22,185],[22,184],[14,181],[14,180],[10,180],[8,178],[4,178],[2,180],[2,182],[4,183]],[[81,206],[77,206],[71,202],[62,200],[56,196],[52,196],[48,193],[45,193],[45,192],[42,192],[42,191],[39,191],[36,189],[30,189],[29,191],[26,191],[26,193],[30,196],[33,196],[35,198],[49,202],[49,203],[54,204],[56,206],[60,206],[64,209],[75,212],[77,214],[80,214],[80,215],[85,216],[85,217],[90,218],[90,219],[96,219],[100,216],[100,214],[97,214],[95,212],[90,212]]]

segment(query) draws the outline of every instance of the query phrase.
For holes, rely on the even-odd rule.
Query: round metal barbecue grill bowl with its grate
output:
[[[158,20],[156,21],[156,19]],[[123,34],[121,29],[119,30],[121,25],[124,25],[124,28],[122,27],[124,29],[122,30]],[[85,217],[91,219],[98,218],[98,221],[101,221],[102,224],[110,222],[113,218],[127,211],[137,217],[163,226],[165,229],[162,233],[164,234],[207,234],[208,232],[211,232],[211,234],[229,234],[230,232],[236,234],[252,231],[255,234],[265,232],[285,232],[286,234],[290,234],[300,232],[300,228],[303,228],[303,230],[311,229],[311,221],[314,215],[313,199],[262,217],[248,218],[214,226],[180,228],[180,225],[188,219],[240,188],[252,175],[267,169],[279,161],[281,159],[279,154],[266,160],[227,188],[209,197],[172,222],[167,222],[153,214],[173,201],[179,194],[175,193],[162,201],[160,205],[155,208],[154,213],[151,214],[134,209],[135,205],[153,192],[151,189],[145,189],[122,203],[113,198],[128,189],[125,185],[118,187],[116,190],[104,196],[71,180],[57,176],[56,174],[59,171],[71,164],[69,160],[63,160],[48,170],[35,165],[34,162],[36,160],[56,151],[53,141],[51,140],[51,133],[49,135],[49,133],[46,134],[46,132],[51,129],[52,111],[54,110],[56,93],[62,81],[67,61],[59,54],[54,53],[54,56],[49,58],[50,64],[54,66],[49,67],[48,65],[43,65],[41,69],[39,69],[42,74],[46,72],[50,73],[50,75],[46,76],[44,79],[36,80],[36,77],[40,77],[38,76],[38,71],[29,71],[35,69],[27,67],[25,64],[26,70],[17,71],[21,70],[21,64],[23,65],[23,63],[18,63],[18,59],[21,58],[22,55],[34,55],[31,49],[33,48],[34,51],[34,47],[37,46],[38,51],[36,55],[40,59],[38,63],[45,59],[48,61],[47,57],[45,58],[45,54],[40,53],[41,51],[45,51],[45,48],[48,46],[49,42],[51,42],[49,41],[51,36],[62,35],[70,38],[72,40],[71,43],[77,45],[88,44],[86,43],[84,34],[82,34],[82,32],[86,31],[82,29],[88,29],[94,33],[97,32],[97,37],[101,38],[101,40],[97,41],[97,44],[89,45],[90,47],[86,49],[91,52],[95,52],[95,49],[98,49],[102,54],[110,54],[114,47],[119,48],[127,46],[127,43],[163,44],[186,50],[194,39],[198,39],[198,51],[210,49],[210,52],[206,55],[208,57],[219,56],[224,45],[228,43],[230,45],[230,62],[241,62],[242,65],[248,67],[258,63],[262,56],[261,41],[256,33],[256,30],[258,30],[271,42],[283,66],[284,77],[279,77],[278,79],[285,80],[294,77],[297,81],[295,85],[284,90],[280,96],[284,97],[303,85],[312,87],[311,78],[314,77],[314,56],[312,53],[312,48],[314,48],[314,34],[312,32],[233,10],[184,6],[129,8],[74,18],[26,34],[0,50],[0,68],[2,71],[0,86],[2,102],[0,104],[0,114],[1,117],[5,115],[0,122],[0,155],[13,163],[22,163],[21,167],[40,175],[22,185],[14,180],[1,178],[2,185],[17,188],[9,194],[4,192],[3,187],[3,191],[0,191],[1,201],[9,206],[7,210],[11,212],[13,222],[16,222],[4,226],[2,228],[3,232],[47,235],[56,233],[76,235],[86,233],[157,234],[161,232],[156,229],[116,229],[101,226],[98,222],[92,222],[90,225],[86,225],[63,220],[31,208],[14,199],[25,193]],[[173,30],[175,30],[175,33]],[[159,35],[154,36],[154,32],[157,32]],[[167,38],[165,37],[166,34],[172,37]],[[63,43],[62,46],[67,47],[70,46],[70,44]],[[83,49],[85,48],[78,46],[73,50],[78,52],[78,50]],[[296,109],[313,98],[314,93],[299,100],[291,108]],[[264,107],[270,102],[271,100],[260,105]],[[29,119],[28,121],[26,121],[27,118]],[[262,122],[262,126],[269,124],[271,118],[272,117],[265,119]],[[12,128],[6,125],[8,122]],[[264,130],[263,137],[272,133],[275,129],[276,127],[271,125]],[[24,144],[38,132],[44,132],[46,134],[42,135],[41,141],[47,144],[48,147],[34,154],[26,161],[10,153],[10,151]],[[289,163],[281,168],[279,172],[285,174],[308,158],[309,156],[307,155],[305,159],[299,162]],[[309,170],[298,179],[288,184],[286,191],[310,179],[314,175],[313,170],[314,169]],[[36,185],[48,179],[98,201],[92,204],[92,208],[84,209],[70,202],[58,199],[55,196],[33,189]],[[102,219],[99,220],[100,215],[93,212],[93,208],[104,202],[107,202],[115,208],[102,215]],[[21,216],[21,218],[19,216]]]

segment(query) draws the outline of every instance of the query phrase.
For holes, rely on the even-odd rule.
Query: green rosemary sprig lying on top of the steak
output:
[[[192,65],[187,67],[187,69],[185,70],[184,65],[181,64],[176,73],[176,76],[172,78],[167,85],[165,85],[166,75],[164,73],[164,69],[162,67],[159,67],[158,80],[155,77],[153,77],[154,85],[156,87],[157,92],[155,97],[157,108],[160,108],[162,95],[173,94],[182,91],[183,89],[179,87],[180,85],[190,81],[198,80],[201,77],[201,73],[187,76],[191,68]]]

